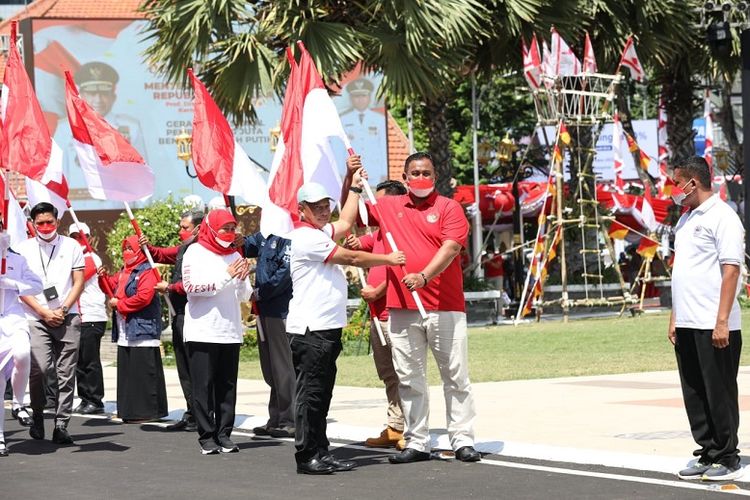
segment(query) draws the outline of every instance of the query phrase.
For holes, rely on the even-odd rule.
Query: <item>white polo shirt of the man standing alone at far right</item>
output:
[[[721,265],[742,266],[744,235],[740,218],[718,195],[680,217],[675,226],[672,270],[675,326],[714,329],[719,313]],[[729,314],[729,330],[741,328],[740,306],[736,300],[741,284],[740,277]]]

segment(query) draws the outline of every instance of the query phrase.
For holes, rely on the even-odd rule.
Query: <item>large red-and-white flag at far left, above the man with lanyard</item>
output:
[[[62,150],[50,136],[44,113],[16,48],[15,21],[11,23],[10,50],[3,79],[2,118],[3,166],[38,181],[60,182]]]

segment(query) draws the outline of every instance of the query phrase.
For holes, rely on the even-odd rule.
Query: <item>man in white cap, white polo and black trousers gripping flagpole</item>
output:
[[[362,170],[353,185],[361,183]],[[336,381],[336,358],[346,326],[347,282],[337,264],[372,267],[399,265],[403,252],[387,255],[356,252],[336,244],[357,217],[361,189],[353,187],[339,220],[331,223],[333,200],[325,188],[308,182],[297,193],[300,221],[285,237],[291,240],[292,300],[286,331],[297,375],[295,397],[295,459],[299,474],[331,474],[353,469],[328,451],[326,417]]]

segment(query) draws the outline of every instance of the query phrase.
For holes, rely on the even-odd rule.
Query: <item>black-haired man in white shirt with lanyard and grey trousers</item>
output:
[[[31,220],[36,237],[20,243],[17,248],[44,284],[42,293],[21,297],[31,330],[29,392],[34,414],[29,434],[34,439],[44,439],[45,374],[55,365],[59,393],[52,441],[73,444],[67,428],[73,408],[81,337],[77,301],[84,285],[83,252],[75,240],[57,234],[59,221],[52,204],[34,205]]]

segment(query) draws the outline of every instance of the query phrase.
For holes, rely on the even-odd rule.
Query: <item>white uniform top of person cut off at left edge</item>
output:
[[[4,289],[0,336],[12,336],[18,332],[28,336],[29,322],[18,297],[40,293],[42,279],[29,268],[22,255],[8,252],[7,259],[5,275],[0,279],[0,288]]]

